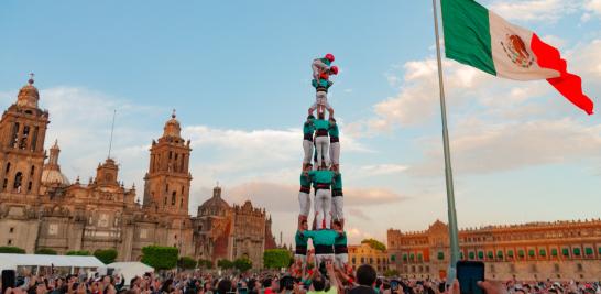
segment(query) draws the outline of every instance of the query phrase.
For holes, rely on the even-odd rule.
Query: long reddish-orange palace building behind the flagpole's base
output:
[[[487,226],[459,231],[460,258],[485,263],[494,280],[594,280],[601,276],[601,219]],[[408,277],[444,276],[449,235],[437,220],[425,231],[387,231],[392,264]]]

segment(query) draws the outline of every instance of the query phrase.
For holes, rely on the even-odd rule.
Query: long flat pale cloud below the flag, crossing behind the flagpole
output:
[[[536,120],[490,124],[478,120],[459,124],[451,134],[454,168],[461,174],[518,170],[578,160],[601,159],[601,124],[577,120]],[[422,141],[439,145],[438,138]],[[438,148],[426,150],[426,160],[408,171],[414,175],[438,175],[442,163]]]

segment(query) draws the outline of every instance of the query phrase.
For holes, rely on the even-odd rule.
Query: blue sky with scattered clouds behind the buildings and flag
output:
[[[600,0],[482,3],[558,46],[598,101]],[[46,145],[58,139],[69,178],[107,156],[117,109],[121,178],[143,187],[175,108],[193,140],[190,213],[219,181],[228,200],[272,211],[288,242],[309,63],[331,52],[351,240],[446,219],[429,1],[3,1],[0,44],[0,106],[36,74]],[[545,83],[445,70],[461,227],[600,216],[599,115]]]

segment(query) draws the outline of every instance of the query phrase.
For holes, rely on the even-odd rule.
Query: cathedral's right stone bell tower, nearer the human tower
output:
[[[144,177],[144,207],[156,211],[188,215],[192,175],[188,171],[190,141],[181,135],[175,110],[165,123],[163,137],[152,141],[150,166]]]

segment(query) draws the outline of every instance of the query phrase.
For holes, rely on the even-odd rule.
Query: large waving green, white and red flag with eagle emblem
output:
[[[504,78],[547,79],[564,97],[592,115],[593,104],[582,92],[580,77],[567,72],[557,48],[473,0],[440,2],[448,58]]]

